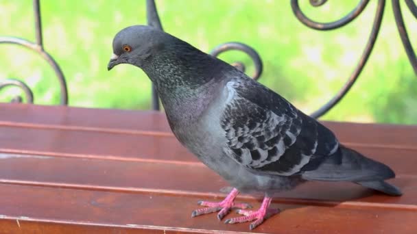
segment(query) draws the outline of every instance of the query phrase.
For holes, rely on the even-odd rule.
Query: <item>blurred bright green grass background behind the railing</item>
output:
[[[320,8],[301,0],[300,7],[316,21],[346,15],[359,1],[329,1]],[[416,18],[403,1],[403,16],[413,42]],[[150,109],[151,83],[133,66],[108,72],[112,38],[117,31],[145,24],[145,1],[95,0],[40,2],[45,50],[60,64],[69,87],[69,105],[119,109]],[[294,16],[289,1],[156,0],[165,31],[202,51],[239,41],[259,51],[264,64],[261,83],[311,113],[346,82],[370,34],[377,1],[341,29],[315,31]],[[0,35],[34,40],[32,1],[0,0]],[[242,61],[251,74],[250,58],[228,52],[221,58]],[[15,45],[0,46],[0,79],[23,79],[36,104],[59,103],[53,70],[39,55]],[[7,88],[0,101],[19,93]],[[390,1],[379,38],[352,90],[323,120],[417,124],[417,77],[398,36]]]

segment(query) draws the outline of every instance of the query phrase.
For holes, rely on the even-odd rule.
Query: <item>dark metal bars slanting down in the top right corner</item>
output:
[[[412,14],[416,17],[417,16],[417,7],[412,1],[405,1],[409,10]],[[400,34],[401,41],[403,42],[403,46],[405,49],[405,53],[407,53],[408,60],[410,64],[412,64],[414,73],[417,75],[417,58],[416,53],[413,51],[413,47],[411,42],[409,42],[407,29],[405,28],[405,24],[403,21],[403,14],[401,13],[401,6],[398,0],[392,0],[392,11],[394,12],[394,18],[396,27],[398,29],[398,33]]]

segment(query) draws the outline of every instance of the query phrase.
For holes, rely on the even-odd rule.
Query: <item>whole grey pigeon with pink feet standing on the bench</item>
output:
[[[160,29],[134,25],[112,42],[108,70],[141,68],[154,83],[172,132],[233,190],[222,202],[200,201],[192,217],[231,209],[250,229],[279,212],[274,194],[307,181],[351,181],[391,196],[391,168],[341,144],[335,134],[241,70]],[[235,203],[239,194],[263,194],[257,210]]]

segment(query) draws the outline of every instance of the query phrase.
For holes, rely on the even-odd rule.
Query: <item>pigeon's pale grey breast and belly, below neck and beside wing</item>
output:
[[[212,93],[213,94],[213,93]],[[293,180],[276,175],[257,174],[237,163],[224,153],[227,146],[226,132],[221,125],[221,117],[230,98],[227,88],[218,90],[204,109],[189,108],[182,115],[193,114],[193,118],[170,120],[171,129],[176,138],[193,153],[203,164],[223,177],[230,185],[241,192],[281,191],[293,187]],[[207,99],[205,100],[207,101]],[[191,107],[197,106],[190,102]],[[176,109],[178,112],[179,109]],[[167,113],[168,118],[169,114]],[[180,112],[177,113],[180,116]]]

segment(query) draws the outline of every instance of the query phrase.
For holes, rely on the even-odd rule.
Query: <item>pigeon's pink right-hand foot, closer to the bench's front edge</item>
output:
[[[239,209],[237,210],[237,213],[243,216],[237,217],[237,218],[230,218],[226,220],[225,223],[235,224],[237,222],[249,222],[249,221],[255,220],[255,222],[252,222],[252,224],[250,224],[249,226],[250,230],[252,230],[256,228],[257,226],[259,226],[259,224],[261,224],[263,220],[265,220],[267,217],[270,217],[276,213],[279,213],[279,209],[268,208],[271,204],[271,200],[272,198],[265,196],[265,198],[263,198],[261,207],[257,211],[248,211],[248,210]]]

